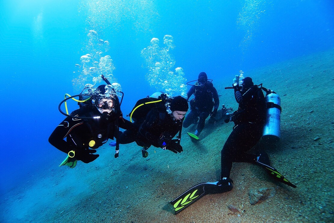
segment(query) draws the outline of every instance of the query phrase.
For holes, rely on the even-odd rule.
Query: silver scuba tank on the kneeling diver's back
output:
[[[263,139],[278,141],[280,139],[281,127],[281,98],[278,94],[271,91],[265,98],[266,100],[266,121],[263,128]]]

